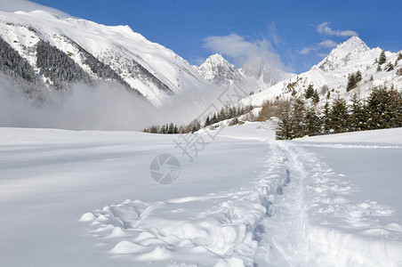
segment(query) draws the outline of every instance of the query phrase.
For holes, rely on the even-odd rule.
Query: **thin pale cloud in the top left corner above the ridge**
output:
[[[62,12],[62,11],[57,10],[52,7],[44,6],[42,4],[36,4],[36,3],[30,2],[28,0],[1,0],[0,1],[0,11],[32,12],[32,11],[36,11],[36,10],[44,10],[47,12],[52,12],[52,13],[58,14],[61,18],[70,18],[71,17],[71,15],[69,15],[66,12]]]

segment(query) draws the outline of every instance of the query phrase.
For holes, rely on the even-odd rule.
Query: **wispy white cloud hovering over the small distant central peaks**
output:
[[[263,57],[269,63],[282,69],[280,56],[274,52],[268,39],[247,41],[243,36],[230,34],[228,36],[208,36],[204,38],[203,47],[213,53],[229,56],[237,66],[243,65],[252,57]]]

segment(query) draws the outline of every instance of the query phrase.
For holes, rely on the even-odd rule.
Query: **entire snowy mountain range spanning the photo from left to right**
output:
[[[339,44],[309,71],[295,75],[252,58],[241,69],[213,54],[199,67],[191,66],[172,50],[147,40],[128,26],[109,27],[89,20],[60,19],[50,12],[0,12],[0,70],[35,85],[62,90],[71,83],[115,81],[160,107],[173,95],[191,88],[233,87],[254,93],[247,101],[302,95],[313,85],[346,97],[366,95],[375,85],[402,87],[398,53],[370,49],[357,36]],[[386,67],[392,64],[392,68]],[[346,92],[348,77],[360,71],[357,88]],[[323,97],[321,97],[323,99]]]

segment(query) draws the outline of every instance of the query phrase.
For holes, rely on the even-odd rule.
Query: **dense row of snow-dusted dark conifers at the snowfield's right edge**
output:
[[[322,109],[297,98],[282,103],[279,119],[279,140],[402,127],[402,93],[379,86],[365,100],[354,94],[348,104],[338,95],[332,102],[327,100]]]

